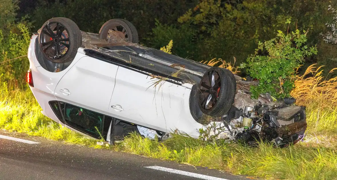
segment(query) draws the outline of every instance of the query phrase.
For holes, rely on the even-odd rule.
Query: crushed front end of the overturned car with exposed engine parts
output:
[[[257,141],[273,142],[278,147],[303,139],[307,128],[305,107],[296,106],[295,99],[276,100],[268,93],[252,99],[247,86],[240,82],[237,85],[240,90],[231,110],[218,120],[217,128],[213,128],[217,130],[212,134],[249,145]]]

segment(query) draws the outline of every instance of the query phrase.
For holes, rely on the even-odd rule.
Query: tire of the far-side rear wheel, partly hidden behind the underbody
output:
[[[126,31],[126,34],[124,34],[123,39],[132,42],[132,43],[138,43],[138,32],[136,28],[133,26],[132,23],[130,23],[127,20],[124,19],[112,19],[104,23],[99,30],[98,37],[101,39],[106,39],[108,36],[109,30],[117,30],[119,32],[122,32],[124,29]]]

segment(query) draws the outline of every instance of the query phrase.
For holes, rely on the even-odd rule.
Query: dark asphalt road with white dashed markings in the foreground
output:
[[[0,131],[0,179],[237,180],[245,176]],[[146,167],[152,167],[146,168]],[[180,171],[177,171],[180,170]],[[168,172],[167,172],[168,171]],[[177,174],[178,173],[178,174]],[[195,174],[193,174],[195,173]],[[206,176],[204,176],[206,175]],[[199,178],[198,178],[199,177]],[[222,178],[222,179],[221,179]]]

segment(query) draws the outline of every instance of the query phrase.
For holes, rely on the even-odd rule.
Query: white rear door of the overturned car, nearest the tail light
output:
[[[117,69],[117,65],[85,56],[57,84],[56,99],[106,114],[115,87]]]

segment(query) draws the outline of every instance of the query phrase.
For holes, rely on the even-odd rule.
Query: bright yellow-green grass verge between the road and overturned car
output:
[[[133,133],[113,146],[98,146],[95,140],[60,126],[43,116],[30,90],[0,89],[0,128],[67,143],[106,148],[146,157],[176,161],[268,179],[337,179],[337,109],[307,108],[308,136],[288,148],[268,144],[245,147],[224,142],[202,142],[184,134],[158,142]]]

